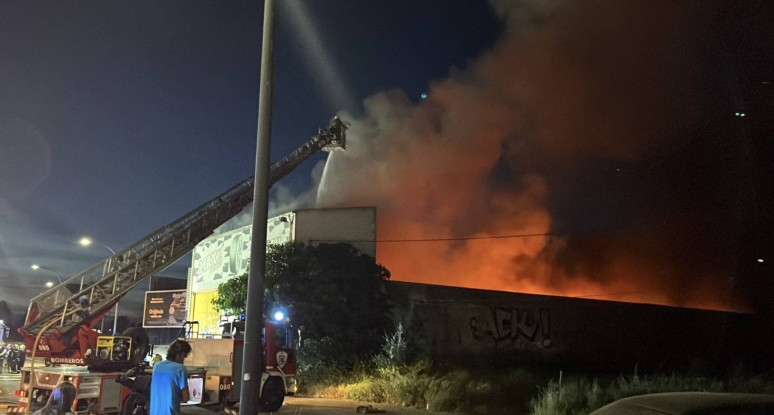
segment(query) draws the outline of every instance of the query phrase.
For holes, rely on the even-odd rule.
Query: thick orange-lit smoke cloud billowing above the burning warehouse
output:
[[[380,92],[341,114],[348,151],[330,156],[317,206],[377,206],[380,240],[554,234],[380,242],[396,280],[744,309],[721,260],[733,203],[702,127],[712,10],[492,5],[502,39],[425,101]]]

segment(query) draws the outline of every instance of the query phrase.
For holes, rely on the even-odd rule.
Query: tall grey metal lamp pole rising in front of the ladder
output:
[[[250,273],[247,283],[245,348],[239,390],[240,415],[259,411],[263,373],[263,276],[266,271],[266,221],[269,214],[269,151],[272,138],[272,72],[274,66],[274,1],[263,5],[261,86],[258,102],[258,139],[255,146],[255,189],[252,202]]]

